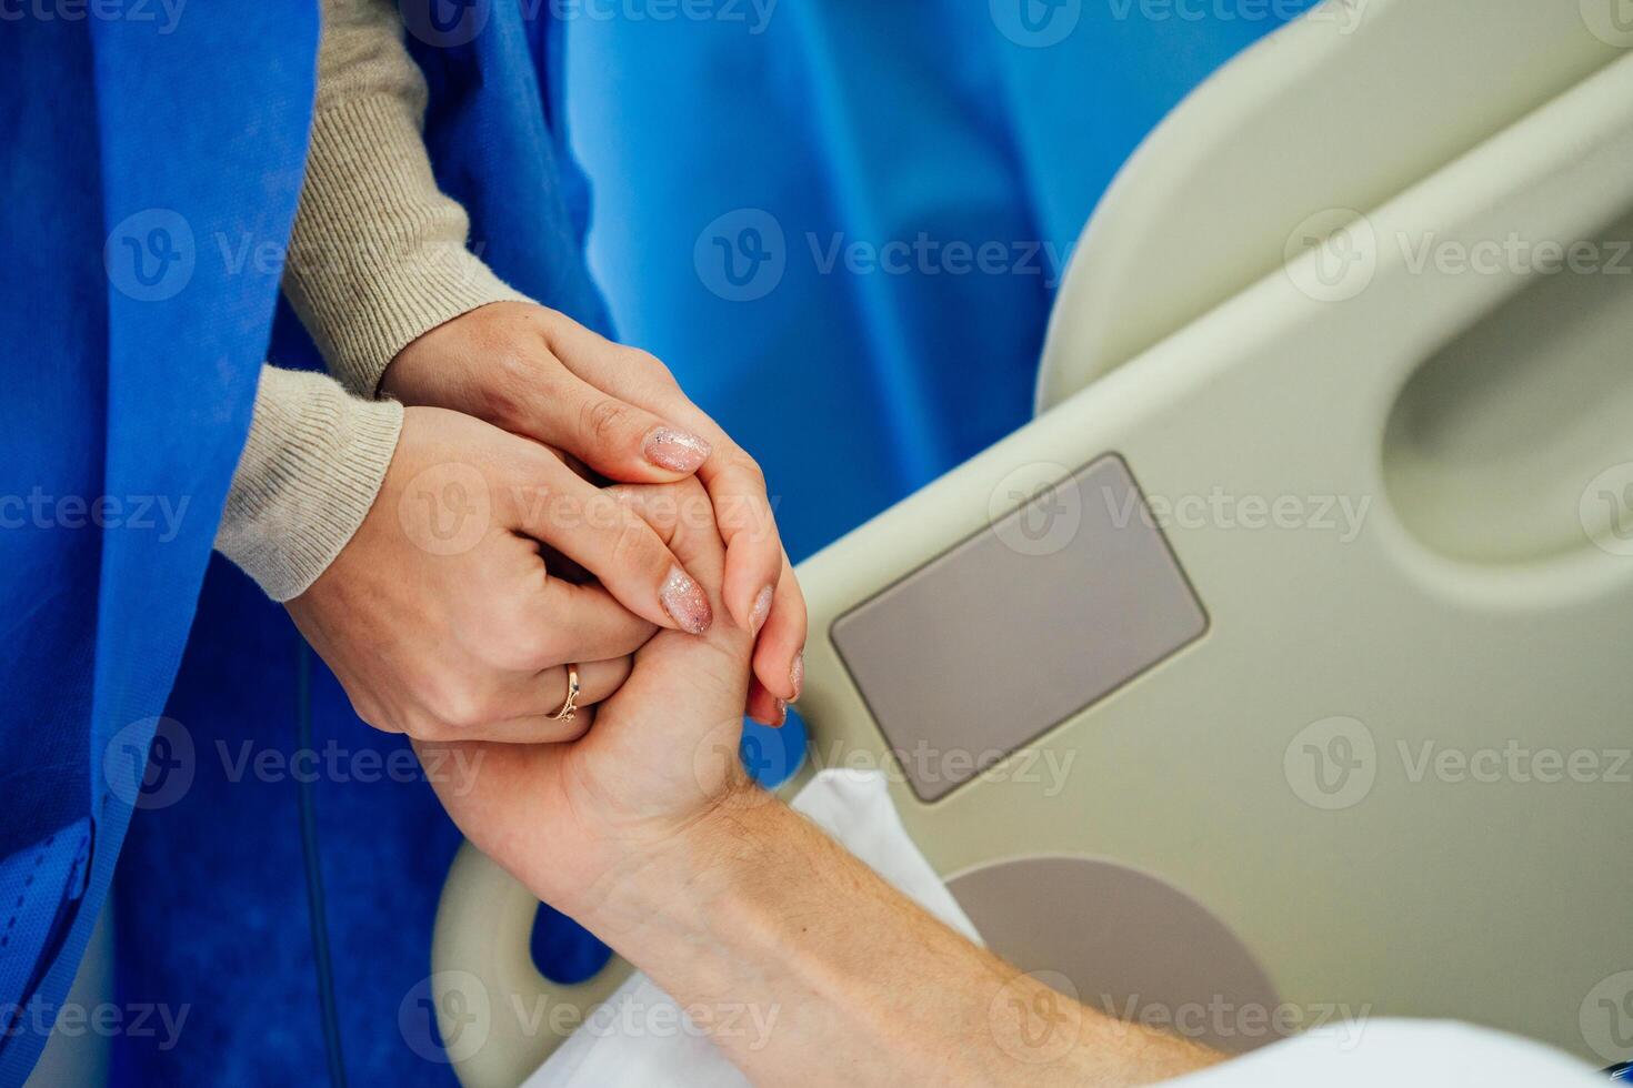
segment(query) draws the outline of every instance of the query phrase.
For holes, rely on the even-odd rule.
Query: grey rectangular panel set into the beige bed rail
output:
[[[833,625],[923,801],[1197,639],[1207,613],[1128,467],[1102,457]]]

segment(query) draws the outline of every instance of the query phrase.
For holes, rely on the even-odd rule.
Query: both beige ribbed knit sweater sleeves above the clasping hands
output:
[[[372,398],[410,341],[524,299],[467,248],[431,176],[425,80],[392,0],[323,0],[317,109],[284,294],[346,388]],[[403,409],[315,374],[265,367],[216,546],[274,600],[305,592],[363,524]]]

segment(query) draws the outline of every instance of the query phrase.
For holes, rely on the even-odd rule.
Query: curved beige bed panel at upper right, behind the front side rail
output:
[[[1618,59],[1620,3],[1347,0],[1253,46],[1102,197],[1061,287],[1081,302],[1052,315],[1039,411],[1274,272],[1334,209],[1383,206]]]

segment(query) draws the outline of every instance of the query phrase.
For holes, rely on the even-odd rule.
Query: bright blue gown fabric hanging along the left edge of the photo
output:
[[[0,1083],[96,920],[248,426],[278,276],[216,243],[283,238],[299,191],[312,11],[186,15],[0,34]]]

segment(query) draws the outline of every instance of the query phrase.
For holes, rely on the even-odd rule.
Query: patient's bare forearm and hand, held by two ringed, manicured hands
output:
[[[673,488],[679,507],[694,481]],[[621,488],[705,589],[725,551]],[[941,925],[736,760],[751,639],[658,631],[572,744],[420,744],[465,835],[647,971],[754,1083],[1141,1085],[1220,1060],[1048,990]],[[745,1018],[769,1026],[743,1031]],[[712,1016],[720,1013],[719,1016]]]

